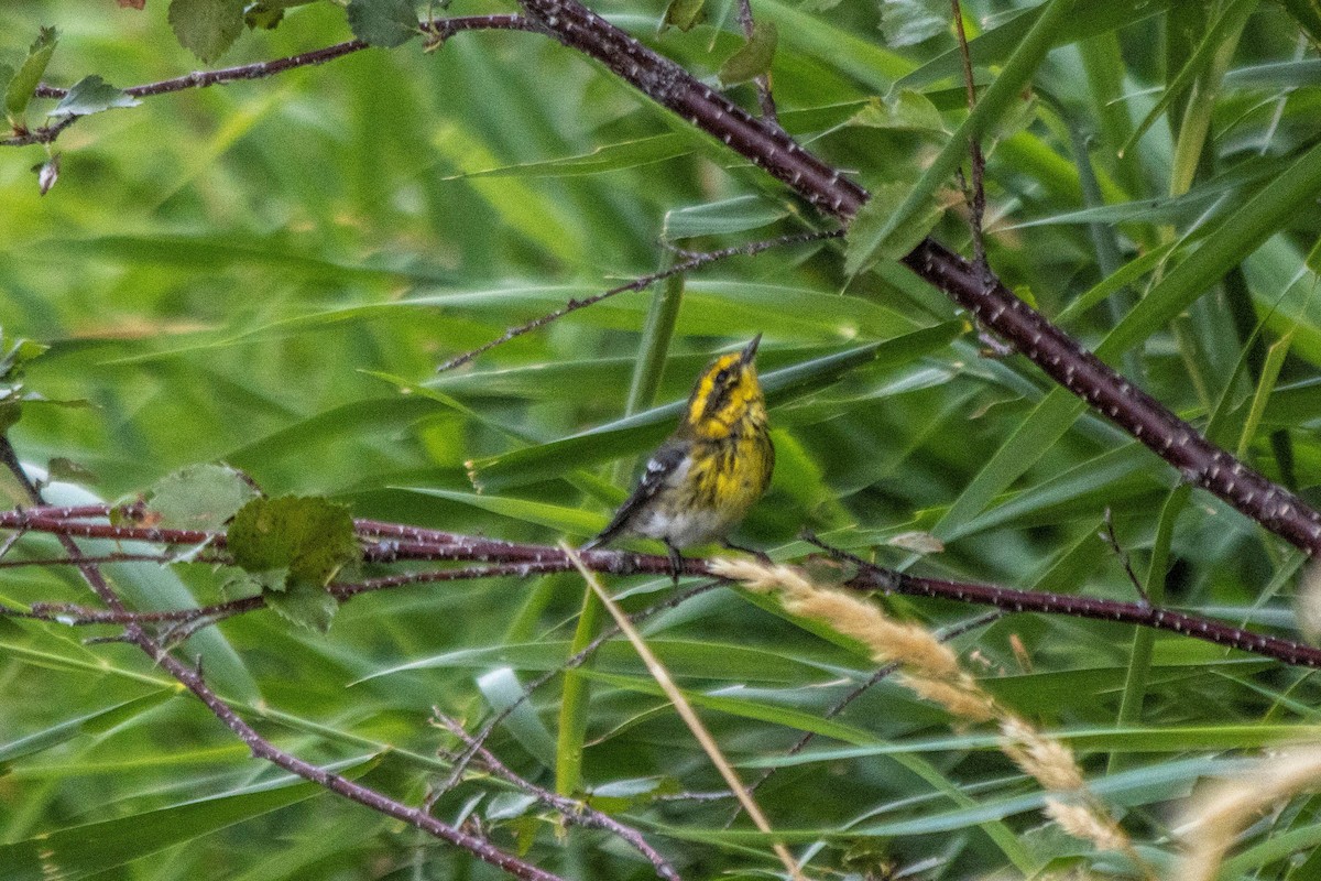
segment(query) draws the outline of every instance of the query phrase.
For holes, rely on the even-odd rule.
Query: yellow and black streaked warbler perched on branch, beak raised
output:
[[[647,461],[610,524],[583,549],[625,534],[660,539],[678,580],[682,548],[717,539],[734,547],[725,536],[766,491],[775,466],[766,398],[753,366],[760,342],[757,334],[701,372],[679,428]]]

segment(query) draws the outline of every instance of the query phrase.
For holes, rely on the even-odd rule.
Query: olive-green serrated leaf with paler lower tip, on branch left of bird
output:
[[[258,577],[268,602],[292,594],[279,612],[322,631],[333,598],[317,601],[309,590],[325,594],[339,569],[362,559],[349,509],[318,497],[255,498],[234,515],[227,539],[234,561]]]

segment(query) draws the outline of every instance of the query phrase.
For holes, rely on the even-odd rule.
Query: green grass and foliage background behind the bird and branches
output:
[[[654,4],[598,8],[712,82],[741,45],[719,5],[707,24],[659,36]],[[963,92],[947,26],[896,44],[905,24],[947,9],[754,9],[778,26],[786,128],[869,188],[909,192],[960,122]],[[989,82],[1011,69],[1032,8],[967,13],[979,82]],[[997,273],[1091,346],[1136,296],[1177,300],[1177,279],[1203,273],[1196,302],[1172,322],[1135,313],[1128,341],[1145,342],[1111,354],[1181,415],[1206,425],[1215,413],[1218,442],[1304,490],[1321,477],[1321,306],[1306,260],[1321,222],[1308,185],[1321,81],[1309,16],[1243,0],[1082,4],[1028,71],[1032,102],[1015,102],[987,139]],[[198,63],[160,0],[144,12],[5,4],[5,61],[21,59],[40,25],[62,33],[53,85],[95,73],[123,87]],[[223,63],[349,37],[342,9],[313,3],[242,36]],[[732,94],[754,106],[748,86]],[[581,539],[672,423],[672,411],[646,411],[638,425],[614,424],[653,295],[580,310],[449,374],[435,366],[657,269],[671,259],[662,238],[720,247],[820,223],[719,144],[526,33],[460,34],[431,54],[417,42],[374,49],[152,98],[79,122],[57,149],[62,174],[46,197],[29,172],[41,148],[0,152],[0,324],[52,345],[29,388],[91,403],[28,407],[12,432],[26,461],[67,457],[95,474],[86,489],[57,487],[61,499],[133,498],[181,466],[223,460],[273,495],[326,494],[357,516]],[[1269,185],[1285,193],[1281,210],[1252,213]],[[958,214],[938,234],[971,252]],[[1217,247],[1199,247],[1217,234]],[[1071,306],[1089,292],[1091,306]],[[794,557],[810,527],[926,573],[1131,600],[1098,538],[1108,507],[1140,575],[1168,553],[1168,579],[1161,565],[1147,585],[1155,598],[1296,633],[1297,552],[1205,494],[1172,493],[1176,473],[1079,416],[1028,362],[983,358],[962,317],[901,267],[849,280],[839,247],[818,244],[695,275],[657,403],[683,398],[712,353],[758,332],[762,372],[779,388],[779,458],[744,542]],[[888,544],[911,531],[946,549],[917,559]],[[128,564],[111,575],[143,606],[214,601],[226,577]],[[612,586],[630,590],[631,608],[670,589]],[[67,569],[4,571],[0,601],[38,600],[86,592]],[[267,612],[181,651],[281,746],[419,802],[445,773],[431,707],[476,725],[515,680],[563,662],[581,602],[569,577],[433,585],[355,600],[328,635]],[[933,626],[978,612],[885,602]],[[785,766],[757,798],[816,877],[861,873],[885,852],[901,865],[933,860],[927,874],[942,878],[1118,865],[1044,826],[1038,787],[983,732],[951,729],[894,683],[826,721],[873,664],[774,604],[721,589],[646,631],[746,777]],[[140,652],[85,645],[89,633],[0,618],[0,877],[37,877],[30,857],[44,848],[66,877],[495,877],[250,761]],[[1173,853],[1172,806],[1199,777],[1235,767],[1242,750],[1314,738],[1308,672],[1202,642],[1009,616],[956,645],[1007,705],[1066,733],[1159,866]],[[727,802],[651,798],[720,783],[631,650],[608,646],[589,678],[583,783],[597,803],[654,832],[684,877],[775,872],[744,819],[725,828]],[[493,741],[543,783],[559,688]],[[804,730],[828,736],[783,759]],[[618,843],[560,837],[535,806],[498,790],[478,798],[486,791],[464,785],[437,812],[481,818],[497,843],[565,877],[651,876]],[[1312,877],[1314,811],[1300,799],[1254,827],[1232,870]]]

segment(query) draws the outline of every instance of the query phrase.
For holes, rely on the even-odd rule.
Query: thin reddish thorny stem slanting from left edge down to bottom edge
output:
[[[9,444],[9,439],[4,436],[0,436],[0,464],[13,473],[15,478],[22,486],[24,493],[33,505],[44,505],[41,493],[32,483],[32,481],[28,479],[28,473],[18,461],[13,446]],[[119,598],[119,594],[110,585],[110,582],[106,581],[104,576],[102,576],[100,569],[95,564],[81,559],[82,553],[73,536],[63,532],[57,532],[55,535],[59,543],[69,552],[69,556],[79,560],[78,568],[82,572],[83,579],[87,581],[89,586],[91,586],[92,592],[100,597],[102,602],[104,602],[112,612],[127,612],[124,604]],[[277,749],[268,740],[263,738],[256,729],[243,721],[243,719],[240,719],[239,715],[235,713],[219,695],[211,691],[210,686],[207,686],[202,679],[199,670],[189,667],[170,655],[169,651],[153,639],[137,622],[129,621],[124,625],[123,639],[124,642],[131,642],[141,649],[141,651],[147,654],[147,656],[151,658],[157,666],[193,692],[193,695],[196,695],[197,699],[201,700],[218,720],[221,720],[221,722],[223,722],[239,737],[239,740],[243,741],[254,758],[266,759],[277,767],[283,767],[291,774],[296,774],[303,779],[324,786],[333,793],[370,807],[374,811],[403,820],[404,823],[428,832],[437,839],[449,841],[450,844],[468,851],[477,859],[503,869],[515,878],[523,878],[524,881],[564,881],[557,874],[552,874],[536,865],[532,865],[531,863],[520,860],[517,856],[505,853],[486,839],[452,827],[448,823],[443,823],[424,811],[408,807],[407,804],[387,798],[373,789],[355,783],[345,777],[341,777],[339,774],[334,774],[333,771],[328,771],[324,767],[317,767],[316,765]]]

